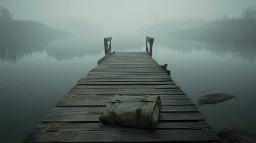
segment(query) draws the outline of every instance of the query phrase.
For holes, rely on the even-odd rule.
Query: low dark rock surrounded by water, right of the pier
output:
[[[199,98],[197,103],[198,103],[198,106],[205,105],[205,104],[217,104],[233,98],[236,98],[236,97],[230,94],[225,94],[225,93],[214,93],[214,94],[208,94],[208,95],[202,96],[201,98]]]

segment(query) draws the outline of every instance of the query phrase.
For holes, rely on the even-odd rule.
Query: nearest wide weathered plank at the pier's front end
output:
[[[68,141],[67,141],[68,140]],[[24,142],[220,142],[212,130],[34,132]]]

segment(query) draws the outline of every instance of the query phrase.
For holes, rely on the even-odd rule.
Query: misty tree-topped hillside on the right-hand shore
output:
[[[172,31],[169,36],[182,40],[255,45],[256,8],[248,6],[242,17],[228,19],[227,15],[224,15],[221,20],[215,20],[196,29]]]

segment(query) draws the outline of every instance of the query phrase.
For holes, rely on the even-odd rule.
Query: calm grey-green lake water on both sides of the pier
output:
[[[104,56],[103,39],[52,41],[36,49],[0,51],[0,142],[22,142],[78,79]],[[145,51],[145,38],[113,38],[116,51]],[[197,102],[211,93],[239,100],[200,107],[205,120],[222,128],[256,130],[255,47],[156,38],[153,57],[168,64],[178,86]]]

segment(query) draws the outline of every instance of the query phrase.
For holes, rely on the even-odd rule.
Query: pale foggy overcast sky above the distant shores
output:
[[[15,19],[54,25],[52,19],[77,19],[109,31],[136,31],[168,19],[216,19],[224,13],[239,17],[256,0],[0,0]]]

